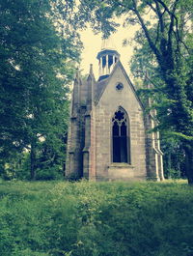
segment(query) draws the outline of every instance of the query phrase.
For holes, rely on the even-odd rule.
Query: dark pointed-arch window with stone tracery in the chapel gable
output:
[[[130,163],[130,139],[128,118],[123,108],[119,108],[112,118],[112,160]]]

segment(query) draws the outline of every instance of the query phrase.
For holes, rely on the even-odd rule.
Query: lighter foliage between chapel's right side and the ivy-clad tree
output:
[[[143,42],[140,42],[140,48],[134,48],[130,69],[134,75],[133,79],[136,89],[138,89],[137,93],[144,101],[144,105],[146,105],[149,97],[152,98],[151,108],[156,107],[156,119],[160,126],[160,123],[164,122],[162,122],[162,117],[165,116],[162,110],[167,106],[170,107],[170,101],[168,102],[165,96],[163,90],[165,84],[160,77],[159,69],[148,43],[144,41],[143,37],[140,37],[140,39],[138,37],[139,40]],[[150,111],[151,108],[147,108],[147,111]],[[164,154],[164,175],[166,178],[184,178],[184,152],[181,148],[181,141],[177,136],[171,136],[167,133],[168,125],[165,123],[164,129],[160,129],[161,149]]]

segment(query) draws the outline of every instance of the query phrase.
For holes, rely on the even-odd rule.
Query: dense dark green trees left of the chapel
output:
[[[5,179],[53,179],[63,172],[69,82],[81,46],[72,10],[68,0],[0,0]]]

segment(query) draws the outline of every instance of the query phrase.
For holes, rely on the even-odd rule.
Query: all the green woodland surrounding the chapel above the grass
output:
[[[0,0],[1,178],[63,179],[79,31],[107,38],[122,20],[139,25],[131,71],[154,100],[165,177],[193,184],[192,13],[191,0]]]

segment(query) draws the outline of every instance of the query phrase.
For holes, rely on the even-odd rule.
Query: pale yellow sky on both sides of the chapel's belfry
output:
[[[121,62],[124,65],[125,71],[130,74],[129,61],[132,56],[133,45],[123,46],[124,39],[132,39],[137,30],[137,27],[129,26],[126,28],[118,28],[118,32],[113,34],[111,42],[115,46],[116,50],[121,54]],[[96,54],[101,49],[101,34],[94,35],[91,29],[81,32],[81,40],[84,45],[82,52],[82,62],[80,64],[80,70],[83,74],[89,72],[90,64],[94,65],[94,73],[96,79],[98,77],[98,63],[96,60]]]

